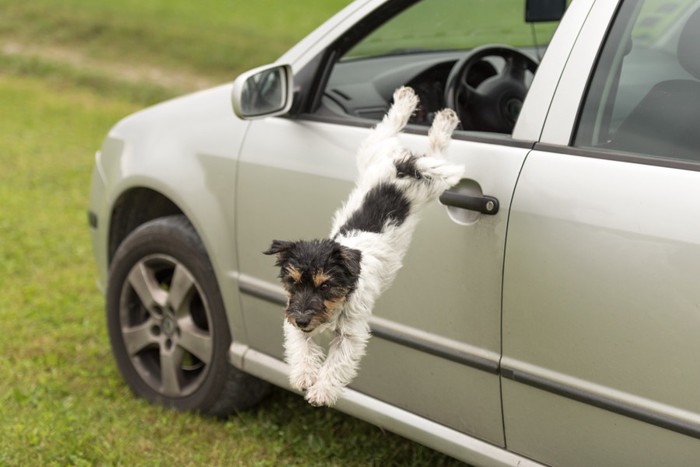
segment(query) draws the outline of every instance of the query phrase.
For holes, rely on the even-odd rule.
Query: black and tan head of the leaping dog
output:
[[[331,321],[360,276],[360,251],[330,239],[275,240],[263,253],[277,255],[275,265],[289,295],[286,319],[304,332]]]

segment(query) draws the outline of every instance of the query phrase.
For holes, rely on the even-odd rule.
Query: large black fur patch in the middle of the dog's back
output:
[[[352,213],[338,234],[353,230],[380,233],[387,222],[401,225],[410,214],[411,204],[401,190],[390,183],[380,183],[362,200],[360,208]]]

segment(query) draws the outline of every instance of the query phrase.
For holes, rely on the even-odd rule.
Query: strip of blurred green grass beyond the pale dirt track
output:
[[[227,81],[276,59],[348,0],[0,0],[6,48]],[[163,80],[167,76],[162,77]]]

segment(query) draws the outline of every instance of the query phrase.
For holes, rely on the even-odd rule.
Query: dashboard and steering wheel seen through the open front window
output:
[[[522,50],[522,51],[521,51]],[[379,120],[400,86],[416,90],[411,123],[429,126],[443,107],[457,110],[461,129],[510,133],[538,62],[528,49],[486,46],[472,52],[398,55],[339,62],[323,105],[336,115]],[[506,93],[502,107],[499,98]]]

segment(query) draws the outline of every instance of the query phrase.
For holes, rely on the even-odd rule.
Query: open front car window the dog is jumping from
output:
[[[393,91],[411,86],[421,101],[412,123],[429,125],[439,109],[449,106],[457,110],[463,129],[509,134],[557,26],[557,22],[526,23],[524,11],[524,0],[423,0],[380,19],[365,18],[337,42],[339,50],[333,54],[337,58],[329,69],[318,114],[379,120]],[[502,45],[527,60],[504,56],[497,50]],[[485,46],[497,53],[477,57],[461,75],[455,73],[460,59]],[[515,61],[512,68],[522,69],[509,83],[519,87],[511,101],[499,96],[468,99],[471,94],[464,85],[457,89],[468,83],[476,90],[487,80],[502,77],[510,69],[509,61]],[[451,73],[459,75],[452,94]],[[456,95],[454,102],[448,99],[451,95]],[[507,111],[507,121],[494,118],[502,113],[501,107]]]

